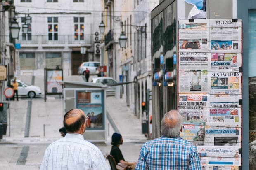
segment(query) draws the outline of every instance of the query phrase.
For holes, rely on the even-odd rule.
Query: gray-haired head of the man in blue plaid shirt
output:
[[[161,121],[161,133],[165,137],[178,137],[182,125],[182,117],[178,110],[170,110]]]

